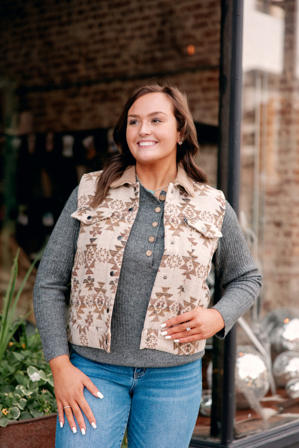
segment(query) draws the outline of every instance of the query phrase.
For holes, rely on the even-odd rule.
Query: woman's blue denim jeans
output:
[[[187,448],[199,411],[201,359],[176,367],[134,368],[90,361],[77,353],[71,362],[104,395],[84,394],[97,428],[73,434],[57,419],[56,448],[120,448],[127,428],[128,448]],[[77,422],[76,422],[77,423]]]

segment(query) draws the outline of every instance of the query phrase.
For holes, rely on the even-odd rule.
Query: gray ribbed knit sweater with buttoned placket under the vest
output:
[[[71,218],[77,209],[76,188],[70,196],[52,232],[38,268],[34,287],[34,311],[47,360],[68,354],[65,328],[64,296],[69,282],[80,222]],[[161,212],[155,213],[155,207]],[[140,350],[140,337],[150,293],[164,251],[164,201],[159,201],[141,186],[137,217],[127,241],[112,315],[111,351],[71,345],[71,350],[97,362],[133,367],[163,367],[188,363],[203,355],[178,356],[153,349]],[[157,221],[153,229],[151,223]],[[147,240],[143,237],[150,226],[155,240],[152,256],[146,256]],[[252,305],[261,285],[261,276],[253,262],[237,217],[227,203],[214,265],[221,286],[221,300],[213,307],[223,316],[224,337],[236,320]],[[68,235],[68,238],[65,235]],[[51,287],[49,287],[49,284]],[[47,285],[47,286],[46,286]]]

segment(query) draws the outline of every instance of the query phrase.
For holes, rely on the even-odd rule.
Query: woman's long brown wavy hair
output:
[[[177,145],[176,162],[182,163],[188,176],[195,182],[208,183],[205,172],[194,163],[194,158],[199,151],[199,145],[185,92],[169,84],[148,84],[136,89],[124,106],[113,132],[113,138],[119,149],[119,154],[111,157],[104,165],[103,172],[97,181],[96,194],[91,204],[92,207],[96,207],[106,198],[111,183],[119,179],[126,168],[136,164],[126,138],[128,111],[138,98],[149,93],[163,93],[172,102],[173,113],[177,121],[177,130],[180,132],[183,140],[181,145]]]

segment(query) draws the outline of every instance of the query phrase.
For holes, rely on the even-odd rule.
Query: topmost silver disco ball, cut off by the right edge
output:
[[[273,355],[287,350],[299,351],[299,309],[277,308],[262,322],[271,342]]]

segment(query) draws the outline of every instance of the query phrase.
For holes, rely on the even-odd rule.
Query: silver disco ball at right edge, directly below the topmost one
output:
[[[278,387],[285,387],[292,378],[299,377],[299,352],[284,351],[273,362],[273,375]]]

